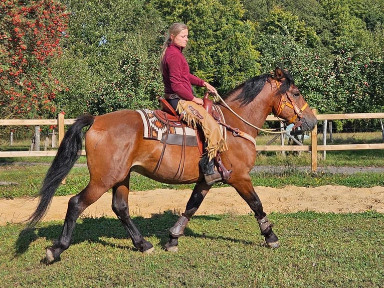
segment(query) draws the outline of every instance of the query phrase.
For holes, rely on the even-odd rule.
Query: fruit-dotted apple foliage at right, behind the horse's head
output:
[[[383,97],[378,87],[383,87],[377,81],[377,71],[382,71],[382,56],[378,51],[382,48],[370,43],[381,43],[382,37],[364,31],[361,23],[353,24],[357,18],[340,13],[333,2],[327,5],[333,9],[328,11],[328,19],[339,23],[332,25],[333,44],[329,47],[342,48],[330,51],[321,45],[316,47],[320,42],[310,37],[313,30],[305,29],[305,23],[290,13],[273,9],[260,25],[257,48],[262,53],[263,70],[270,72],[275,64],[282,63],[318,113],[381,111]],[[347,24],[346,19],[350,19]],[[307,31],[311,33],[305,34]],[[316,41],[309,45],[308,39]]]

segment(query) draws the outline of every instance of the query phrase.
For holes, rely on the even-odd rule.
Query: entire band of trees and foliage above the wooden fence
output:
[[[283,64],[319,113],[384,108],[384,4],[376,0],[62,3],[2,3],[2,118],[157,107],[157,60],[176,21],[190,30],[191,72],[221,94]]]

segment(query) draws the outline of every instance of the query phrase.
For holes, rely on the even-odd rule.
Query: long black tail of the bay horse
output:
[[[80,157],[83,142],[82,129],[92,125],[93,121],[94,117],[92,115],[81,115],[65,133],[56,157],[48,169],[40,188],[39,204],[35,212],[27,220],[29,228],[35,226],[47,213],[57,188]]]

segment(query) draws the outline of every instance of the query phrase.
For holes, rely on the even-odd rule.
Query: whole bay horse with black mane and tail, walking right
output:
[[[257,127],[262,127],[271,112],[286,122],[300,126],[301,131],[312,130],[317,119],[294,84],[292,76],[281,68],[276,68],[272,74],[256,76],[244,82],[225,95],[223,100],[218,105],[221,106],[226,123],[237,128],[236,131],[250,136],[241,137],[236,131],[227,131],[228,151],[222,161],[233,172],[226,183],[236,189],[254,212],[266,244],[277,248],[278,237],[272,230],[272,223],[263,210],[249,176],[256,160],[254,139],[259,132]],[[48,211],[55,191],[80,156],[82,129],[88,126],[85,150],[90,180],[79,194],[69,200],[62,233],[46,249],[47,263],[58,260],[61,253],[68,249],[80,214],[110,189],[113,194],[112,209],[133,245],[144,253],[153,250],[153,245],[144,239],[129,215],[129,179],[132,171],[162,183],[196,183],[185,211],[170,229],[169,241],[164,247],[165,250],[176,251],[178,238],[183,235],[190,217],[198,210],[212,185],[206,184],[199,169],[201,154],[197,147],[168,145],[161,156],[163,144],[143,138],[142,120],[139,113],[133,110],[120,110],[100,116],[85,114],[77,118],[65,133],[43,180],[38,206],[28,219],[27,227],[34,227]],[[174,161],[182,157],[182,149],[184,156],[188,157],[185,159],[183,174],[176,178],[178,162],[175,164]],[[161,166],[156,169],[160,156],[163,157]]]

